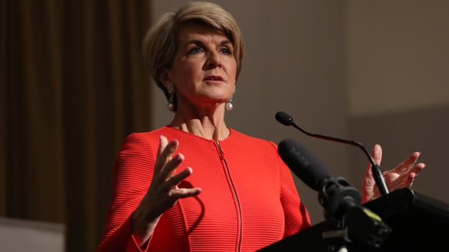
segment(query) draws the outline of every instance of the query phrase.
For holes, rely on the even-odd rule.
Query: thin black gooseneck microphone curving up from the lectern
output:
[[[365,149],[365,147],[361,143],[356,142],[354,140],[345,140],[345,139],[341,139],[341,138],[334,138],[332,136],[324,136],[321,134],[312,134],[312,133],[306,132],[304,129],[299,127],[294,122],[292,116],[289,116],[289,114],[282,112],[282,111],[276,113],[276,120],[278,120],[279,123],[282,123],[285,126],[293,126],[294,128],[298,129],[300,132],[303,132],[307,136],[312,136],[314,138],[320,138],[320,139],[324,139],[324,140],[330,140],[330,141],[336,142],[336,143],[344,143],[347,145],[359,147],[365,153],[368,160],[370,160],[371,170],[372,170],[372,174],[374,176],[374,181],[376,181],[376,185],[379,188],[379,191],[381,192],[382,195],[388,194],[388,187],[387,187],[387,184],[385,183],[385,178],[383,178],[381,167],[379,167],[379,165],[376,165],[376,163],[374,162],[374,159],[372,158],[370,153],[368,153],[368,151]]]

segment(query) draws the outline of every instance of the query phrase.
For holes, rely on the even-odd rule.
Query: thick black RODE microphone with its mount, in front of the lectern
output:
[[[332,178],[309,151],[292,139],[282,140],[278,153],[285,164],[309,187],[318,191],[329,224],[347,231],[348,237],[380,248],[392,229],[376,213],[360,204],[360,193],[344,178]],[[324,235],[324,233],[322,234]]]

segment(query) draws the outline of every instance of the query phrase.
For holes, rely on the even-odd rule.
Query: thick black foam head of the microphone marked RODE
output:
[[[322,180],[331,177],[326,167],[293,139],[282,140],[278,146],[278,153],[285,165],[315,191],[320,189]]]

